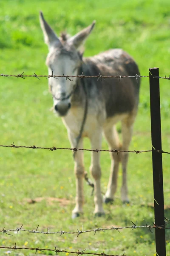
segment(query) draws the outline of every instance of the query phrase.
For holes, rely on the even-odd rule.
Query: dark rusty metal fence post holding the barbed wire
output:
[[[159,68],[150,68],[149,76],[155,225],[164,226],[162,154],[156,151],[162,150],[159,79],[154,78],[159,76]],[[166,256],[165,229],[155,230],[155,241],[157,255]]]

